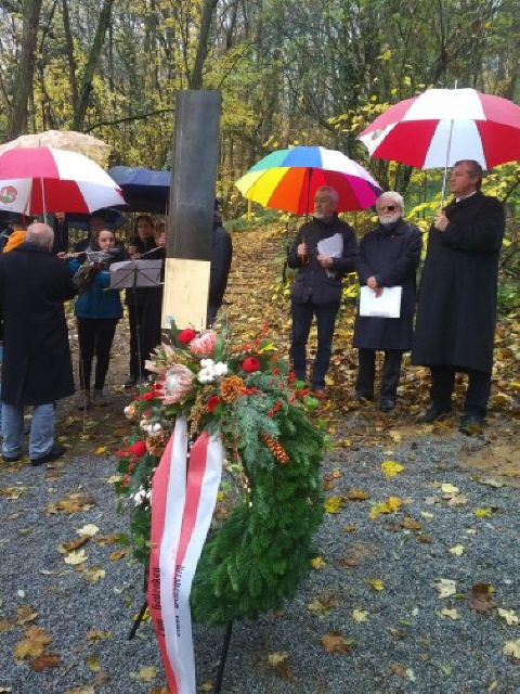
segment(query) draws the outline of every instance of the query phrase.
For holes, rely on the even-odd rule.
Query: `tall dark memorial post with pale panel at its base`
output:
[[[162,329],[206,327],[221,94],[178,91]]]

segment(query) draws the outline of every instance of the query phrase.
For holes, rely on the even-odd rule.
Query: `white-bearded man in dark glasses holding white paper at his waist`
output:
[[[376,296],[386,287],[401,286],[399,318],[358,316],[353,345],[359,349],[359,371],[355,395],[359,400],[374,398],[376,350],[385,351],[379,409],[389,412],[395,407],[404,351],[412,349],[416,300],[416,272],[420,260],[422,237],[416,227],[402,218],[404,202],[399,193],[382,193],[376,203],[379,226],[361,240],[355,269],[362,286]]]

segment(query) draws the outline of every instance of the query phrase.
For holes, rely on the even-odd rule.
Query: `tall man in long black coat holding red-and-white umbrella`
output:
[[[455,373],[468,374],[460,421],[465,434],[480,433],[486,414],[505,230],[502,203],[483,195],[481,183],[482,167],[477,162],[457,162],[453,167],[455,198],[430,229],[412,350],[412,362],[431,371],[431,407],[419,422],[433,422],[450,412]]]

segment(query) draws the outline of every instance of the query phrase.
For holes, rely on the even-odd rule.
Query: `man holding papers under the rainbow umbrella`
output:
[[[328,185],[314,196],[314,217],[298,232],[287,257],[298,268],[290,292],[292,340],[290,356],[299,381],[307,378],[307,342],[316,317],[317,351],[312,371],[312,390],[323,400],[325,375],[330,363],[336,314],[341,301],[342,279],[355,267],[355,232],[338,218],[338,193]]]

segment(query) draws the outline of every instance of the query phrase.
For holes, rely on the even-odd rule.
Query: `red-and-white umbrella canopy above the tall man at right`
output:
[[[429,89],[400,101],[359,136],[370,156],[422,169],[520,159],[520,107],[476,89]]]

